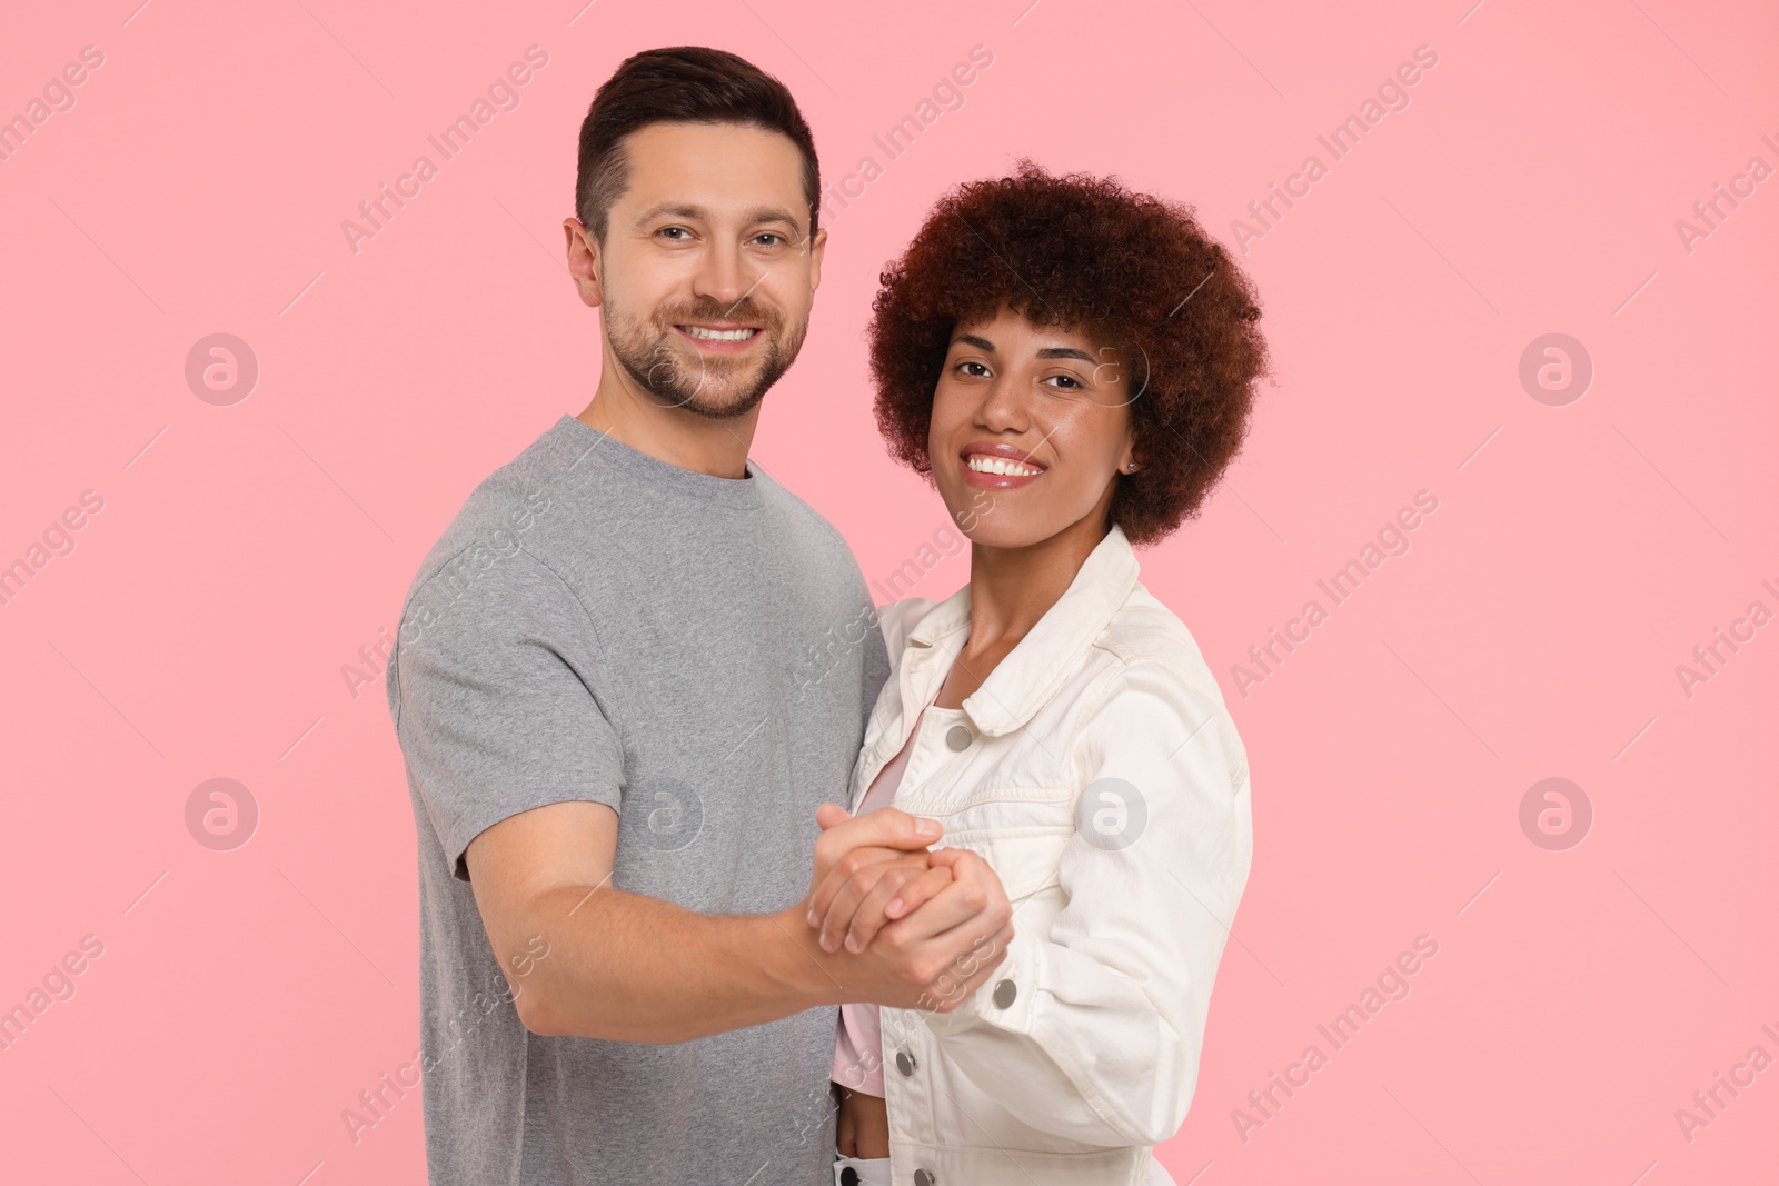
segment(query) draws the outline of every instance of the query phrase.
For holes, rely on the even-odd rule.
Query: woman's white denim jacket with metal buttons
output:
[[[854,811],[964,645],[970,589],[881,619],[895,670]],[[1014,905],[1007,960],[955,1012],[881,1010],[895,1184],[1146,1181],[1192,1101],[1252,825],[1217,681],[1119,528],[961,709],[927,709],[895,805]]]

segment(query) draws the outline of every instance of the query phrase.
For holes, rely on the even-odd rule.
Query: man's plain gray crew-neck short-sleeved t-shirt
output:
[[[694,473],[564,416],[475,489],[388,667],[434,1186],[833,1181],[836,1010],[676,1046],[537,1037],[464,850],[521,811],[608,804],[619,889],[781,910],[808,893],[815,809],[845,802],[886,676],[852,553],[753,462]],[[514,953],[521,990],[550,941]]]

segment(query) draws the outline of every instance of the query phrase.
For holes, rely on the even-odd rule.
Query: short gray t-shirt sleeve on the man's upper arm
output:
[[[523,549],[466,549],[415,590],[390,699],[454,877],[470,880],[477,834],[521,811],[619,809],[623,745],[596,693],[600,667],[585,608]]]

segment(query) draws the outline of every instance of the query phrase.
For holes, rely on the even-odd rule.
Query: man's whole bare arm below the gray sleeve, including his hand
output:
[[[948,1012],[959,985],[984,980],[1012,939],[1000,882],[975,875],[884,926],[863,951],[824,951],[808,919],[809,902],[777,914],[703,916],[612,889],[608,875],[596,880],[610,864],[580,852],[560,859],[576,866],[569,877],[537,873],[528,850],[548,850],[562,827],[532,816],[568,807],[514,816],[468,850],[482,923],[519,1021],[539,1035],[687,1042],[841,1001]],[[584,823],[608,814],[591,811]],[[813,884],[834,869],[850,877],[850,866],[872,862],[877,848],[923,852],[938,837],[938,825],[895,807],[859,818],[833,813],[840,818],[822,823]],[[616,830],[616,816],[610,825]],[[966,855],[952,864],[968,866]],[[984,942],[993,958],[980,957]]]

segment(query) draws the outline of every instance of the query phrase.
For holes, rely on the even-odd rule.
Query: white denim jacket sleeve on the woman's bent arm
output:
[[[923,1019],[1025,1124],[1155,1145],[1192,1102],[1247,884],[1247,761],[1222,697],[1158,661],[1117,672],[1071,738],[1083,791],[1057,871],[1066,905],[1035,934],[1014,903],[1005,964],[955,1012]]]

